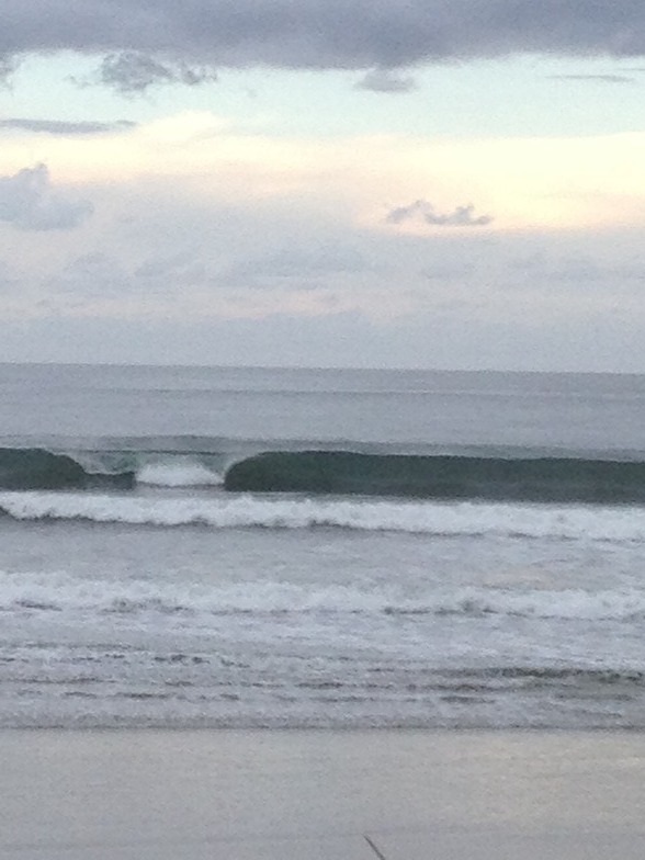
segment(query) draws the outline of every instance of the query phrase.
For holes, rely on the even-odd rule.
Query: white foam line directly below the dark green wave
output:
[[[150,498],[90,493],[0,493],[0,510],[23,521],[87,520],[212,529],[336,528],[437,536],[645,542],[642,509],[602,506],[252,495]]]

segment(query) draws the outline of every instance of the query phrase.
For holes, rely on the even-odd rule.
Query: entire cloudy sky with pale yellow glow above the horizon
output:
[[[642,0],[0,20],[0,361],[645,373]]]

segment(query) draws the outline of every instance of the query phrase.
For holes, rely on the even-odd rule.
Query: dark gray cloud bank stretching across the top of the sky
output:
[[[642,0],[0,0],[0,21],[9,66],[33,52],[125,52],[161,67],[111,60],[108,78],[135,90],[163,68],[177,73],[167,64],[394,69],[513,53],[645,55]]]

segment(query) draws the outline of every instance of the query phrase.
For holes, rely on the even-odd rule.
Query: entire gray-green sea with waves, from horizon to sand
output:
[[[645,727],[645,377],[0,365],[0,726]]]

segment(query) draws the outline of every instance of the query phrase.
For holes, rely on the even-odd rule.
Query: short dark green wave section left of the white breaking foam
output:
[[[134,474],[94,474],[67,454],[41,449],[0,449],[0,487],[3,489],[129,488]]]

